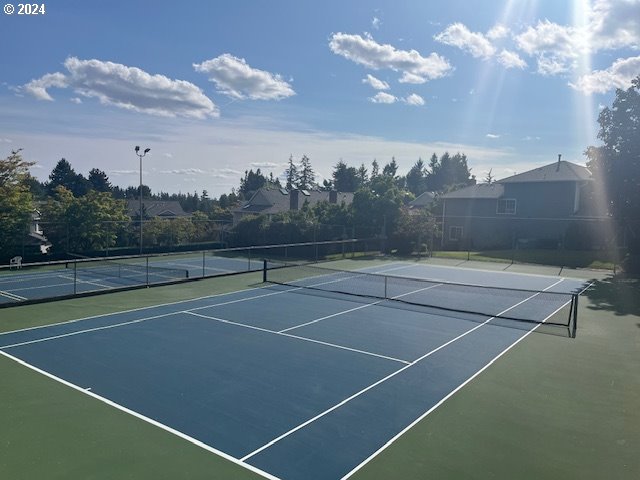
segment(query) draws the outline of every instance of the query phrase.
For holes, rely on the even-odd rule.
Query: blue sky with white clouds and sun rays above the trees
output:
[[[231,192],[310,158],[479,181],[585,164],[640,75],[640,0],[52,0],[0,15],[0,157],[154,192]],[[42,10],[44,9],[44,12]],[[24,12],[23,12],[24,13]],[[32,12],[33,13],[33,12]]]

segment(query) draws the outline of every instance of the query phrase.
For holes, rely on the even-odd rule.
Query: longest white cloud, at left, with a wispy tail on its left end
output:
[[[23,85],[22,90],[40,100],[53,100],[48,88],[71,88],[103,105],[165,117],[206,118],[218,116],[214,103],[194,84],[150,75],[136,67],[101,60],[69,57],[68,73],[48,73]]]

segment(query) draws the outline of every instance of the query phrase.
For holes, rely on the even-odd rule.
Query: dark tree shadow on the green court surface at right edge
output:
[[[640,316],[640,279],[612,277],[593,280],[584,295],[591,302],[587,307],[591,310]]]

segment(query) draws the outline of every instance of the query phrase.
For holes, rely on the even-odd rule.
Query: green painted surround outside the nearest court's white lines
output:
[[[15,307],[0,311],[0,330],[259,281],[247,274]],[[638,478],[639,294],[636,281],[596,282],[581,299],[576,339],[529,335],[352,478]],[[259,478],[1,355],[0,377],[0,478]]]

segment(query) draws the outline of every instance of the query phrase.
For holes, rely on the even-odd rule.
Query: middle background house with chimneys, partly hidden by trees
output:
[[[253,196],[240,208],[234,210],[233,224],[251,215],[275,215],[288,212],[289,210],[300,210],[305,203],[310,207],[320,202],[334,204],[344,203],[346,205],[353,202],[353,193],[319,191],[319,190],[286,190],[284,188],[260,188]]]

